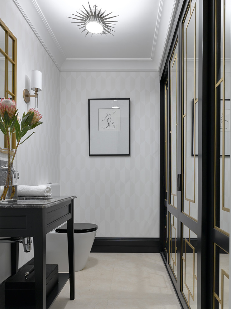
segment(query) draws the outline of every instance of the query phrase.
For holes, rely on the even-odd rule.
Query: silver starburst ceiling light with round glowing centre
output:
[[[89,4],[89,2],[88,2]],[[94,7],[95,7],[95,10],[94,10]],[[74,22],[74,23],[78,23],[79,25],[77,26],[82,26],[80,27],[79,29],[83,29],[82,32],[84,31],[87,31],[86,35],[90,32],[92,35],[93,34],[112,34],[111,32],[115,32],[112,28],[114,28],[112,25],[115,25],[113,22],[117,22],[117,20],[110,20],[111,18],[114,18],[114,17],[117,17],[119,15],[116,15],[116,16],[112,16],[112,17],[108,17],[111,13],[109,14],[106,14],[104,15],[104,13],[106,11],[104,11],[103,13],[101,12],[101,9],[98,10],[97,9],[97,5],[94,5],[93,6],[93,11],[92,11],[92,8],[90,7],[90,4],[89,4],[89,10],[86,10],[85,7],[83,6],[84,10],[86,12],[83,12],[82,10],[80,10],[82,12],[79,13],[77,12],[79,15],[76,15],[76,14],[71,14],[71,15],[74,15],[76,17],[79,17],[79,18],[76,18],[76,17],[69,17],[68,18],[73,18],[73,19],[76,19],[78,20],[78,22]],[[82,33],[81,32],[81,33]],[[85,35],[85,37],[86,37]],[[113,35],[113,34],[112,34]]]

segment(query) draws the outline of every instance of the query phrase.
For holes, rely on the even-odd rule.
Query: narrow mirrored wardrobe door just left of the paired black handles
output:
[[[178,237],[178,211],[179,211],[179,44],[178,38],[169,60],[169,148],[168,148],[168,239],[169,254],[168,265],[177,282],[177,237]]]

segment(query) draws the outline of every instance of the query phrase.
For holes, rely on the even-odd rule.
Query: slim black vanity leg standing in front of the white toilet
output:
[[[71,202],[72,217],[67,221],[68,263],[70,274],[70,299],[75,299],[75,259],[74,259],[74,201]]]

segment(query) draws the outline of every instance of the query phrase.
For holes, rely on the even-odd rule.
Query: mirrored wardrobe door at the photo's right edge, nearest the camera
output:
[[[215,1],[213,308],[229,308],[230,0]]]

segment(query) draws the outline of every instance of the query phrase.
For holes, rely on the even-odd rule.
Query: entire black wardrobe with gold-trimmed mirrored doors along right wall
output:
[[[228,309],[231,0],[179,3],[162,66],[168,69],[166,267],[182,308]]]

